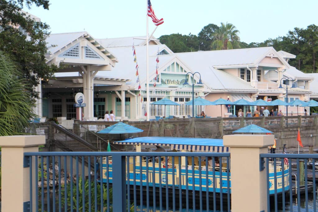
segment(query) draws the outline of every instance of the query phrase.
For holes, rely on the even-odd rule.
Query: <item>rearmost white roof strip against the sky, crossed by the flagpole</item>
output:
[[[135,38],[135,39],[134,39]],[[143,39],[136,39],[143,38]],[[156,39],[155,37],[151,37]],[[124,47],[124,46],[135,46],[146,45],[146,36],[137,36],[137,37],[124,37],[124,38],[106,38],[106,39],[97,39],[100,44],[105,47]],[[161,44],[159,41],[153,41],[157,45]]]

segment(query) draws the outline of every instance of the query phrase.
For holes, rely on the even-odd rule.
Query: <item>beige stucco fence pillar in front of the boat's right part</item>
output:
[[[224,146],[231,147],[232,211],[267,211],[267,168],[259,171],[259,154],[267,153],[273,140],[274,135],[223,136]]]

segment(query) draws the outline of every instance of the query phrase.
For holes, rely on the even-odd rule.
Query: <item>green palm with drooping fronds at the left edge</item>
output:
[[[0,136],[25,133],[34,104],[9,56],[0,51]]]

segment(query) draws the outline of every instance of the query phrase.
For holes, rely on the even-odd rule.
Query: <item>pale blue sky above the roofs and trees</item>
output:
[[[85,31],[94,38],[146,34],[146,0],[51,0],[50,10],[24,9],[51,26],[52,33]],[[317,0],[152,0],[163,18],[154,36],[195,34],[207,24],[228,22],[240,31],[241,41],[262,42],[286,35],[294,27],[318,25]],[[149,19],[149,33],[154,24]]]

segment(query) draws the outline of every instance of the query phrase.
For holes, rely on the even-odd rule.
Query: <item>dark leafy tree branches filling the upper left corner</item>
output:
[[[58,69],[56,65],[47,65],[45,54],[48,52],[46,38],[49,35],[49,26],[35,21],[22,11],[23,5],[32,4],[42,6],[48,10],[48,0],[0,0],[0,51],[10,55],[10,59],[20,70],[17,79],[27,82],[25,89],[32,97],[38,97],[34,86],[39,79],[48,79]],[[22,27],[28,37],[19,31]]]

